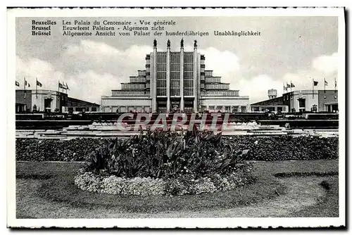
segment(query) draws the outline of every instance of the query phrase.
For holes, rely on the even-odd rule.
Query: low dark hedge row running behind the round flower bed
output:
[[[317,136],[222,136],[239,149],[249,149],[247,160],[318,160],[339,158],[339,139]],[[16,139],[17,160],[86,161],[108,139]]]

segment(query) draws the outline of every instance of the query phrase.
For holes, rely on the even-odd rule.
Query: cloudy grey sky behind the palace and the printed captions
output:
[[[56,20],[51,37],[31,35],[32,20]],[[181,37],[68,37],[63,36],[63,18],[17,18],[16,20],[16,81],[23,89],[23,77],[30,84],[35,78],[43,89],[58,89],[58,80],[67,82],[69,96],[100,103],[101,96],[120,89],[120,82],[145,68],[145,55],[153,50],[180,50]],[[209,32],[207,37],[184,37],[186,51],[199,51],[206,56],[206,69],[230,82],[241,96],[254,103],[268,99],[268,89],[282,94],[283,83],[291,82],[296,89],[311,89],[312,78],[323,89],[334,89],[337,77],[337,17],[187,17],[187,18],[66,18],[66,20],[175,20],[168,31],[194,30]],[[214,30],[260,31],[256,37],[215,36]]]

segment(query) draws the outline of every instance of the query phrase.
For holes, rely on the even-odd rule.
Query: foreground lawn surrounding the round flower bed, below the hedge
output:
[[[267,204],[266,202],[275,202],[275,198],[282,200],[282,197],[291,188],[298,194],[300,191],[307,191],[306,182],[316,183],[313,187],[315,191],[312,193],[318,191],[321,194],[320,203],[313,203],[314,205],[307,203],[309,206],[301,208],[302,210],[293,212],[285,210],[277,216],[331,217],[338,216],[339,213],[338,160],[256,162],[254,163],[254,174],[258,180],[254,184],[234,191],[173,197],[126,197],[82,191],[77,189],[73,182],[73,177],[82,167],[82,163],[18,162],[16,166],[18,217],[149,217],[150,215],[161,217],[182,217],[182,215],[229,217],[242,216],[242,214],[243,216],[251,216],[248,215],[249,209],[253,209],[254,212],[258,211],[255,213],[258,215],[263,206]],[[311,179],[296,177],[304,178],[303,181],[297,179],[303,183],[294,184],[294,187],[298,186],[298,189],[291,186],[290,178],[285,175],[313,175],[313,172],[326,176],[320,178],[312,176]],[[284,178],[281,180],[275,175]],[[283,183],[285,180],[289,183]],[[318,186],[323,180],[325,180],[324,185],[327,193],[322,186]],[[279,203],[282,201],[278,201],[276,204]],[[300,204],[299,201],[296,203]],[[276,204],[273,205],[274,208]],[[262,209],[261,205],[263,205]],[[234,208],[242,209],[234,211]],[[56,211],[53,214],[52,211],[47,210]],[[310,213],[310,210],[313,212]],[[275,211],[273,213],[275,216]],[[263,213],[263,216],[265,215],[268,213]]]

